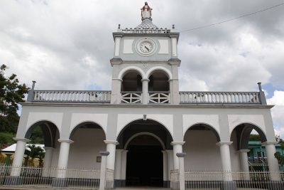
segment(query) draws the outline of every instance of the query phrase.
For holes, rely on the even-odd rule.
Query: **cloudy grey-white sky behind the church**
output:
[[[257,91],[284,138],[284,0],[151,0],[153,23],[180,31],[180,90]],[[141,23],[138,0],[1,0],[0,64],[36,90],[110,90],[112,32]],[[188,31],[190,30],[190,31]]]

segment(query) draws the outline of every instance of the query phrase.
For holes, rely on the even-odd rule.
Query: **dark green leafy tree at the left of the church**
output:
[[[25,101],[23,98],[29,88],[21,84],[15,74],[6,77],[6,69],[6,65],[0,66],[0,131],[16,133],[18,103]]]

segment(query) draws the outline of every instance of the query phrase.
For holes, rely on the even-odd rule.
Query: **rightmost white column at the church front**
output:
[[[281,181],[278,160],[274,157],[276,152],[275,144],[277,142],[263,142],[262,144],[266,146],[266,157],[268,168],[271,172],[271,181]]]

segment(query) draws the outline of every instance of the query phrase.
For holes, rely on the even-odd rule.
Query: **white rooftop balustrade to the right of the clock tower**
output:
[[[261,104],[259,92],[180,92],[181,104]]]

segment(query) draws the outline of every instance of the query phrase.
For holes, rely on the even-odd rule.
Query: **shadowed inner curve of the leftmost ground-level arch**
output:
[[[60,131],[58,127],[49,120],[40,120],[38,122],[33,123],[28,130],[26,130],[25,138],[29,139],[35,127],[40,126],[43,131],[43,138],[45,141],[45,147],[55,147],[55,137],[58,134],[58,138],[60,138]]]

